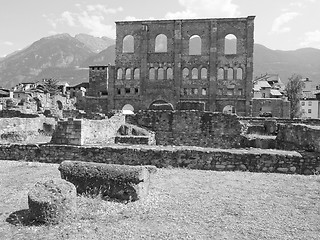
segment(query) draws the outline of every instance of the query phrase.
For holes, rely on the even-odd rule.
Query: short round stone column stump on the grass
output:
[[[62,179],[37,182],[29,191],[31,218],[45,224],[57,224],[76,211],[76,188]]]

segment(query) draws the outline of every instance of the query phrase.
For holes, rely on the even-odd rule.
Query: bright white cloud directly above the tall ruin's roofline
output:
[[[240,14],[232,0],[179,0],[179,3],[184,10],[168,12],[165,18],[237,17]]]

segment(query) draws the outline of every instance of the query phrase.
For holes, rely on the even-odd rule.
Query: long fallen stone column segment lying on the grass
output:
[[[64,161],[61,177],[72,182],[79,194],[136,201],[148,195],[150,174],[143,166]]]

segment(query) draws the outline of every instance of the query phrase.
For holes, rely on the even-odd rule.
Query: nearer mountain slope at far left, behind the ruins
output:
[[[50,69],[76,69],[94,53],[69,34],[42,38],[24,50],[9,55],[0,62],[0,85],[12,87],[19,82],[43,78],[43,71]],[[59,76],[48,76],[59,79]]]

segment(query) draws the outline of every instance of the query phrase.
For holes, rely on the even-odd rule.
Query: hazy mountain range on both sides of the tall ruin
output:
[[[88,66],[114,64],[115,40],[78,34],[42,38],[28,47],[0,58],[0,86],[11,88],[20,82],[55,78],[74,85],[88,81]],[[254,45],[254,76],[279,74],[286,82],[292,74],[320,83],[320,50],[271,50]]]

